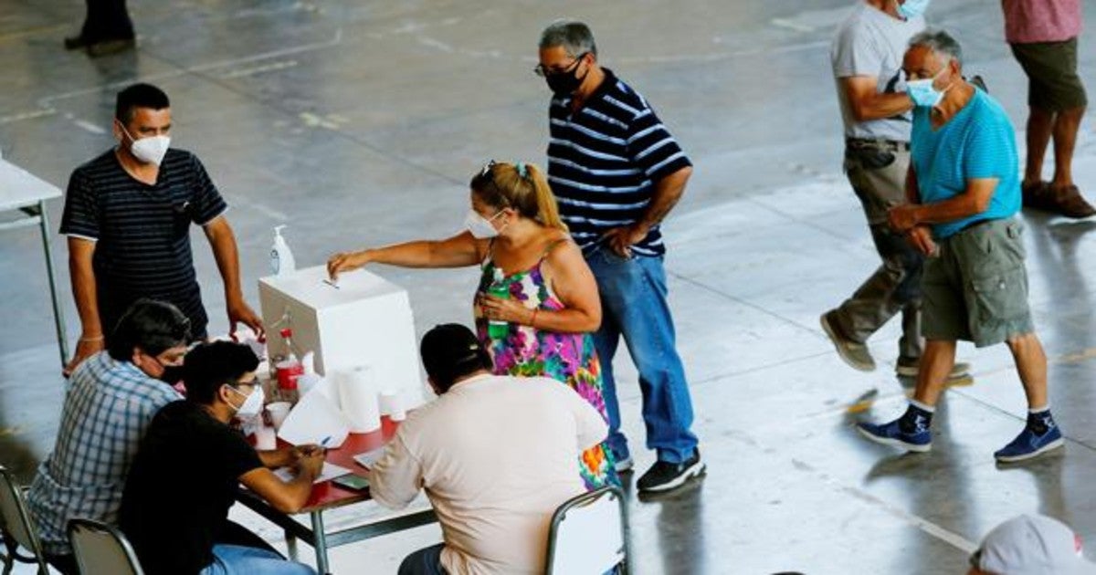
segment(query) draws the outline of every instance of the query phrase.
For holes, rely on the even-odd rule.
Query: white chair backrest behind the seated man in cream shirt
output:
[[[556,509],[548,531],[548,575],[601,575],[617,566],[627,573],[628,562],[627,505],[618,487],[583,493]]]

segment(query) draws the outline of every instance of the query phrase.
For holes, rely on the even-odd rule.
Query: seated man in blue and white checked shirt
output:
[[[118,321],[106,350],[72,373],[53,452],[27,494],[46,556],[76,573],[65,528],[84,517],[115,524],[122,485],[156,412],[181,395],[179,380],[190,321],[174,306],[139,300]]]

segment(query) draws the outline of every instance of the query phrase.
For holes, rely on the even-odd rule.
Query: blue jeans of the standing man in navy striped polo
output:
[[[602,326],[594,334],[594,345],[602,364],[609,447],[617,460],[628,457],[613,379],[613,356],[623,335],[639,370],[647,448],[657,450],[660,461],[681,463],[693,457],[697,439],[689,430],[693,401],[674,343],[662,257],[624,258],[600,246],[586,255],[586,263],[602,295]]]

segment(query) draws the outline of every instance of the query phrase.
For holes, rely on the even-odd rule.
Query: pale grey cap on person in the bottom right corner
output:
[[[1094,575],[1081,536],[1058,519],[1021,515],[994,527],[970,556],[967,575]]]

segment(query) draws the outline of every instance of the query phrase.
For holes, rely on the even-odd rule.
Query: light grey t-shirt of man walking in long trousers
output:
[[[923,16],[899,20],[863,1],[837,30],[830,47],[830,61],[845,122],[845,137],[910,141],[910,112],[884,119],[856,122],[840,80],[868,76],[878,80],[879,92],[904,92],[902,56],[910,38],[923,30]]]

